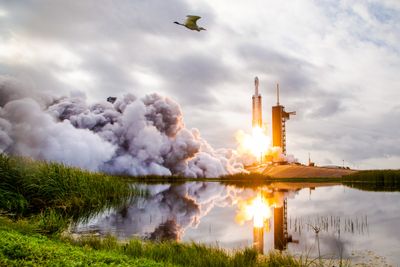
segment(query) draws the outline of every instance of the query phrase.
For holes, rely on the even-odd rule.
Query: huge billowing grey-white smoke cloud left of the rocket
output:
[[[187,129],[169,98],[127,94],[115,103],[44,97],[0,77],[0,152],[129,175],[218,177],[243,171],[231,150],[214,150]]]

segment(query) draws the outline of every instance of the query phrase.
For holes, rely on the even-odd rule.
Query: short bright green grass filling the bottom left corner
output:
[[[28,223],[14,224],[0,220],[0,266],[173,266],[115,250],[75,246],[35,234]]]

